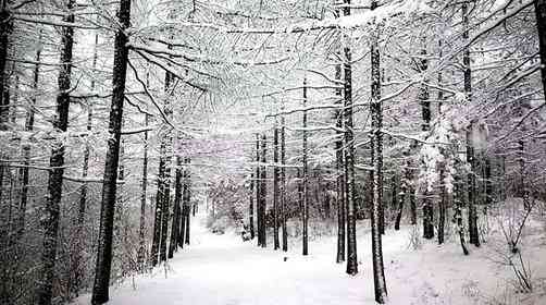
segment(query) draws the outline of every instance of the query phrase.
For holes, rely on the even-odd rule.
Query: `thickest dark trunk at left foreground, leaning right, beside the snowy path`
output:
[[[127,76],[128,37],[125,30],[131,26],[131,0],[121,0],[117,12],[120,28],[115,34],[114,64],[112,77],[112,105],[110,109],[109,141],[104,164],[104,181],[100,209],[99,245],[91,303],[104,304],[109,300],[110,271],[112,265],[112,231],[115,211],[120,138]]]

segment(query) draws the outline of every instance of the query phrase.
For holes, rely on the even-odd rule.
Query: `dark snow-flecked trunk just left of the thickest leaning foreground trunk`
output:
[[[75,0],[66,2],[67,15],[63,22],[74,22]],[[59,71],[59,94],[57,96],[57,111],[53,119],[53,127],[59,132],[66,132],[69,126],[69,108],[71,77],[72,77],[72,50],[74,46],[74,28],[66,26],[62,28],[61,60]],[[51,304],[54,267],[57,260],[57,243],[60,218],[60,203],[62,198],[62,183],[64,173],[64,144],[62,141],[54,141],[51,149],[49,166],[48,195],[46,198],[44,224],[44,252],[41,254],[40,279],[37,281],[36,304]]]

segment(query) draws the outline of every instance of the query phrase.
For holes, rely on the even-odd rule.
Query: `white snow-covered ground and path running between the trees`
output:
[[[204,216],[193,221],[193,244],[178,251],[152,274],[128,279],[111,290],[111,305],[362,305],[375,304],[369,221],[359,225],[359,273],[335,264],[335,236],[317,237],[310,255],[300,245],[288,253],[258,248],[238,235],[215,235],[204,229]],[[522,254],[530,264],[532,293],[518,293],[514,272],[502,264],[506,247],[500,231],[489,230],[480,247],[448,239],[443,246],[426,241],[414,248],[411,227],[388,229],[384,240],[389,304],[546,304],[546,234],[544,224],[524,231]],[[286,257],[286,261],[285,261]],[[519,258],[518,258],[519,259]],[[78,303],[79,302],[79,303]],[[89,296],[76,304],[89,304]]]

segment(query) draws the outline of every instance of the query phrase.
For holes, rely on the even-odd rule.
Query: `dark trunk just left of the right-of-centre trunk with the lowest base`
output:
[[[344,15],[350,15],[350,0],[345,0],[343,9]],[[352,129],[352,68],[351,50],[349,46],[344,47],[344,107],[345,107],[345,171],[347,197],[347,269],[348,274],[358,273],[357,257],[357,219],[356,219],[356,181],[355,181],[355,131]]]

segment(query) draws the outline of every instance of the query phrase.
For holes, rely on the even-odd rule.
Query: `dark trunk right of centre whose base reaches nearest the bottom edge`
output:
[[[371,3],[371,10],[377,8],[375,0]],[[375,25],[379,27],[379,25]],[[371,68],[372,68],[372,99],[370,112],[372,118],[372,261],[373,283],[375,302],[384,304],[387,300],[387,286],[383,266],[383,245],[381,234],[381,206],[383,205],[383,106],[381,101],[381,75],[380,75],[380,49],[379,28],[372,34]]]

